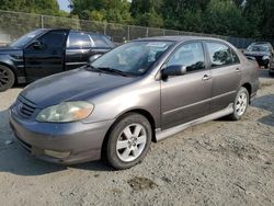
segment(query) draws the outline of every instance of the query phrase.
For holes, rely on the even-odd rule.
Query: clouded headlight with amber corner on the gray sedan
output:
[[[88,102],[62,102],[41,111],[36,116],[37,122],[69,123],[87,118],[94,106]]]

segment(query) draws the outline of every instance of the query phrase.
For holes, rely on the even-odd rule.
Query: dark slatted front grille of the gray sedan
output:
[[[21,95],[18,98],[16,107],[19,114],[24,118],[30,118],[37,108],[34,103]]]

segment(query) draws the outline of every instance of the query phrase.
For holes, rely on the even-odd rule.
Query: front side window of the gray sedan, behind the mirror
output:
[[[187,72],[205,69],[205,55],[202,43],[187,43],[181,46],[169,59],[167,66],[185,66]]]

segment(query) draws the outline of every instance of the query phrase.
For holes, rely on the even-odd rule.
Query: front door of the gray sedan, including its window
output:
[[[201,42],[185,43],[167,62],[186,67],[186,75],[161,81],[161,127],[167,129],[209,114],[210,70]]]

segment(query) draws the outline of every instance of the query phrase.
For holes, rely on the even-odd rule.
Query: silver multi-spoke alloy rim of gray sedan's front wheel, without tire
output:
[[[121,133],[116,152],[118,158],[124,162],[136,160],[144,151],[147,144],[147,131],[140,124],[132,124]]]

